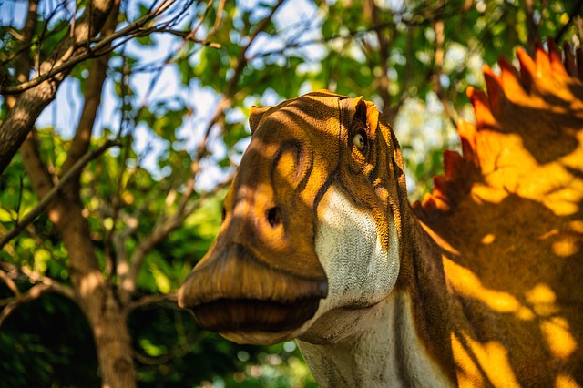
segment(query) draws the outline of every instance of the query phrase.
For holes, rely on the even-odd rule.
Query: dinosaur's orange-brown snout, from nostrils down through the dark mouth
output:
[[[179,306],[202,327],[228,335],[293,331],[328,294],[312,220],[293,203],[278,202],[271,187],[237,183],[217,240],[180,288]]]

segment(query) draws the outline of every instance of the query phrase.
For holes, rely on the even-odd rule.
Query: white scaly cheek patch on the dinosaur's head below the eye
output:
[[[384,300],[399,275],[399,238],[393,215],[389,214],[389,247],[384,250],[379,224],[343,191],[332,185],[321,203],[315,248],[329,290],[321,307],[359,308]]]

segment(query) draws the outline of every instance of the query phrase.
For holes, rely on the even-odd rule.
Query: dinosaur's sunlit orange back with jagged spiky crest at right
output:
[[[485,66],[487,94],[467,92],[476,124],[457,125],[463,155],[445,152],[413,206],[463,311],[460,383],[583,385],[581,57],[549,41],[534,59],[518,49],[519,71]]]

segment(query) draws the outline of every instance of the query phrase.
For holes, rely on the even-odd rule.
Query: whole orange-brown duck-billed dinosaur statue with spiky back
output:
[[[372,103],[253,108],[179,305],[234,342],[298,339],[322,386],[583,386],[583,53],[548,46],[485,67],[463,155],[413,205]]]

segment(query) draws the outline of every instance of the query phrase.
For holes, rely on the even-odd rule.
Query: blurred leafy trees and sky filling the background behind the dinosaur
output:
[[[537,37],[578,45],[582,7],[0,0],[3,386],[314,386],[294,342],[238,346],[176,306],[250,107],[319,88],[373,100],[420,199],[483,64]]]

